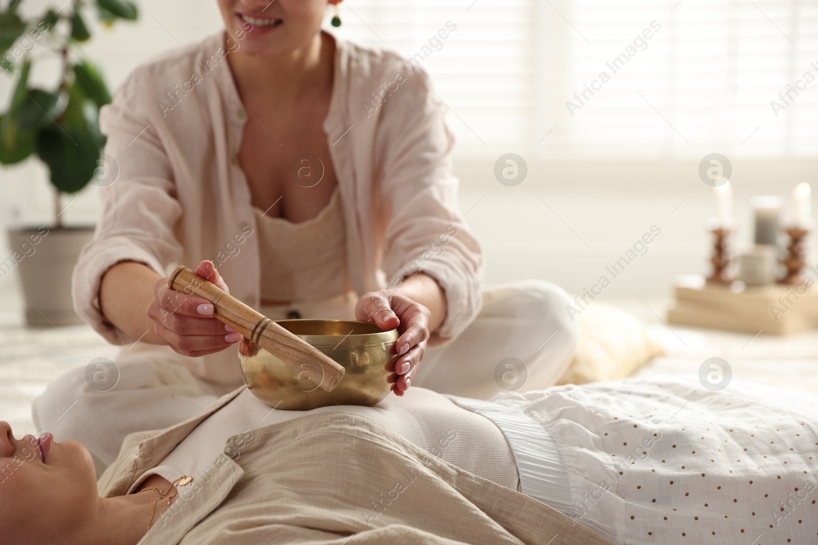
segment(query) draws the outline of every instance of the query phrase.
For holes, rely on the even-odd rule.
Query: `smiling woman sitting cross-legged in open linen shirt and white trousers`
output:
[[[322,30],[340,0],[199,9],[213,3],[223,29],[137,67],[101,109],[116,176],[73,275],[77,313],[122,346],[121,373],[142,369],[135,360],[184,369],[142,377],[138,399],[106,391],[104,404],[73,370],[36,400],[36,427],[82,441],[101,471],[128,433],[183,422],[240,386],[240,335],[208,301],[167,288],[177,265],[204,260],[201,275],[216,284],[218,267],[267,318],[398,328],[393,395],[487,399],[509,357],[525,363],[525,387],[556,384],[578,336],[568,294],[542,279],[482,285],[448,109],[424,66]]]

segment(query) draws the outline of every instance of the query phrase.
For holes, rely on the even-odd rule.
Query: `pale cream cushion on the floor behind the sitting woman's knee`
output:
[[[573,361],[558,384],[624,378],[665,352],[636,316],[596,302],[577,316],[579,340]]]

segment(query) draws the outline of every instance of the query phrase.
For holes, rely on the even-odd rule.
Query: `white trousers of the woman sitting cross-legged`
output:
[[[562,288],[538,280],[483,288],[479,316],[458,337],[427,349],[412,386],[478,399],[553,386],[577,340],[576,323],[565,312],[569,302]],[[342,317],[337,310],[330,314]],[[303,318],[328,316],[310,306],[299,312]],[[75,369],[52,382],[32,408],[38,430],[85,444],[97,471],[115,460],[129,433],[173,426],[239,386],[213,385],[155,357],[117,366],[119,380],[110,391],[93,388],[86,369]]]

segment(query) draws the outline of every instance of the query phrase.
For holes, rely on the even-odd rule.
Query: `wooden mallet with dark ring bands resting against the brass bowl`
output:
[[[297,369],[299,375],[306,373],[309,380],[322,390],[333,391],[344,378],[344,368],[315,346],[304,342],[236,297],[223,292],[186,266],[179,266],[173,271],[168,286],[213,303],[213,318],[236,329],[236,332],[250,342]]]

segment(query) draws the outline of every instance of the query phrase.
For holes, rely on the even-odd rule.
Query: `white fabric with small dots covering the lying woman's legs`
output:
[[[628,379],[501,395],[569,471],[566,513],[613,543],[818,543],[818,404],[734,381]]]

